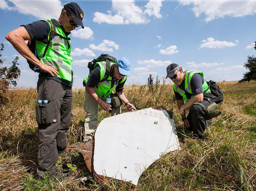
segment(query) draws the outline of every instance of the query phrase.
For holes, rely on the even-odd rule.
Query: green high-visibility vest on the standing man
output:
[[[48,19],[49,20],[49,19]],[[47,21],[48,22],[48,21]],[[48,22],[51,28],[51,24]],[[65,32],[61,29],[61,26],[55,25],[55,32],[61,35],[64,38],[68,38]],[[48,35],[49,40],[50,32]],[[36,50],[37,56],[40,58],[40,62],[43,64],[47,64],[49,66],[55,66],[60,73],[57,77],[67,80],[69,82],[73,82],[73,70],[71,64],[73,62],[73,58],[70,56],[71,53],[71,44],[70,38],[64,39],[59,36],[54,36],[52,39],[45,57],[43,57],[44,50],[46,48],[46,44],[37,40],[36,41]],[[56,76],[54,74],[54,76]]]

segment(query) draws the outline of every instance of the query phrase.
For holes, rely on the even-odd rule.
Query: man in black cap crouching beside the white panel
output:
[[[206,120],[202,106],[194,103],[200,102],[206,106],[209,101],[215,101],[216,97],[208,89],[203,73],[195,71],[183,72],[178,64],[173,63],[167,67],[166,78],[168,77],[174,83],[176,102],[182,115],[184,126],[189,131],[193,131],[195,138],[204,139],[204,130],[211,123],[211,120]],[[187,108],[189,108],[189,115],[186,117],[185,110]]]

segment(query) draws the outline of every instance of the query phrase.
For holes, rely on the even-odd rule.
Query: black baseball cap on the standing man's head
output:
[[[67,3],[64,5],[64,9],[71,14],[72,19],[74,20],[74,23],[76,25],[80,25],[82,28],[84,28],[83,25],[83,17],[84,13],[81,9],[81,7],[77,3]]]

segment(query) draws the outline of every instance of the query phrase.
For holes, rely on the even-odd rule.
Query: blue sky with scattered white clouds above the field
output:
[[[58,19],[67,0],[0,0],[5,64],[19,56],[18,87],[35,88],[38,73],[6,40],[8,32],[40,19]],[[202,71],[206,80],[236,81],[255,55],[256,0],[74,0],[83,24],[71,32],[74,88],[83,87],[88,61],[107,53],[131,63],[126,85],[165,79],[171,63]],[[10,65],[10,64],[9,64]],[[167,79],[166,83],[172,83]]]

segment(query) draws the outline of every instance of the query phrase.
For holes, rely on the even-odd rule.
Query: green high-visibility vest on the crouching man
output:
[[[191,89],[191,85],[190,85],[190,80],[195,73],[200,74],[203,77],[202,72],[186,71],[186,74],[185,74],[185,90],[187,92],[189,92],[191,95],[192,95],[192,89]],[[179,93],[183,97],[184,102],[188,102],[193,97],[193,95],[192,95],[191,98],[188,99],[185,94],[185,91],[183,89],[180,89],[179,86],[176,86],[175,84],[173,85],[173,87],[174,87],[175,92]],[[203,89],[203,91],[208,89],[208,84],[206,83],[205,80],[202,84],[202,89]],[[211,92],[210,89],[208,89],[206,92],[204,92],[204,94],[209,93],[209,92]]]

